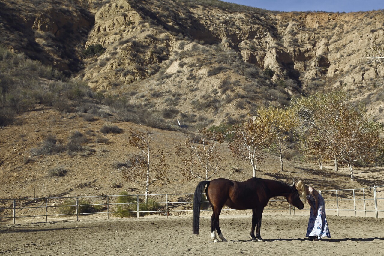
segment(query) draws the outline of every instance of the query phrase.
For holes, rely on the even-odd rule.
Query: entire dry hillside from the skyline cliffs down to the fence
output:
[[[89,85],[86,95],[119,99],[108,105],[94,97],[98,115],[87,118],[96,106],[87,108],[84,98],[76,98],[83,93],[77,82],[68,90],[74,105],[69,111],[58,106],[66,101],[63,91],[70,84],[63,76],[29,79],[28,73],[38,72],[34,65],[24,73],[7,73],[7,79],[0,73],[3,91],[18,83],[23,89],[33,84],[56,92],[55,100],[45,104],[29,91],[30,105],[20,107],[27,111],[1,127],[0,198],[142,193],[122,180],[118,168],[137,153],[128,143],[132,128],[151,131],[154,154],[164,151],[169,164],[169,181],[152,191],[192,193],[198,180],[187,181],[179,173],[177,142],[199,128],[237,123],[259,106],[287,106],[300,95],[348,91],[352,101],[366,103],[367,112],[383,123],[384,86],[378,78],[384,76],[384,65],[364,59],[384,42],[383,20],[382,11],[284,13],[216,0],[0,0],[1,47],[26,56],[17,60],[2,52],[2,62],[22,69],[21,60],[38,60]],[[98,44],[104,52],[84,54]],[[12,101],[5,95],[3,101]],[[189,131],[147,127],[169,128],[177,120]],[[122,133],[101,133],[105,123]],[[85,138],[80,151],[34,153],[47,135],[68,145],[76,131]],[[226,143],[220,149],[225,161],[217,177],[246,180],[252,175]],[[343,168],[319,171],[315,164],[298,161],[286,160],[286,171],[278,172],[278,158],[265,156],[257,173],[262,178],[305,179],[319,189],[384,183],[382,168],[358,170],[352,182]],[[66,174],[53,177],[54,168]]]

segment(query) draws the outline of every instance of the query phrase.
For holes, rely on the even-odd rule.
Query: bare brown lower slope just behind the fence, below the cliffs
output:
[[[78,114],[61,114],[57,110],[42,107],[20,115],[17,124],[0,129],[0,198],[25,198],[40,196],[86,196],[118,194],[122,190],[132,194],[144,193],[144,189],[134,183],[122,180],[118,163],[124,163],[128,157],[138,153],[128,143],[129,129],[151,131],[153,156],[164,151],[169,165],[169,181],[164,185],[152,187],[154,193],[193,193],[198,179],[185,180],[180,173],[181,161],[176,156],[176,144],[190,135],[181,131],[166,131],[147,128],[129,122],[110,122],[98,119],[84,121]],[[122,133],[103,134],[101,126],[105,123],[117,125]],[[79,131],[88,142],[82,151],[76,154],[62,152],[52,155],[34,155],[48,134],[55,134],[63,145],[70,142],[71,135]],[[101,137],[101,138],[100,138]],[[223,153],[222,169],[218,177],[233,180],[247,180],[252,177],[252,168],[245,161],[232,156],[225,143],[219,145]],[[257,176],[279,179],[292,183],[293,179],[303,179],[319,189],[362,188],[384,184],[383,168],[356,170],[356,181],[351,181],[347,168],[336,173],[332,166],[318,170],[315,164],[285,160],[285,171],[279,172],[278,157],[266,155],[260,163]],[[57,167],[66,170],[64,176],[52,176]],[[43,186],[44,185],[44,186]]]

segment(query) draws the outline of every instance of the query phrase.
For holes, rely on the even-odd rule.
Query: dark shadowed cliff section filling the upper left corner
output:
[[[68,75],[79,70],[79,44],[94,17],[82,1],[0,2],[2,44]]]

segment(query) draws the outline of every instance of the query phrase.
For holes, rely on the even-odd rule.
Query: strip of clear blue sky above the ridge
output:
[[[384,9],[384,0],[224,0],[267,10],[359,12]]]

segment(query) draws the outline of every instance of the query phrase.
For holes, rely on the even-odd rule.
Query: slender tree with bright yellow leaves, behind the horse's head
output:
[[[297,126],[297,118],[293,110],[283,110],[270,106],[257,111],[257,119],[269,130],[273,136],[273,143],[276,145],[280,156],[280,171],[284,171],[283,144],[289,139],[288,134]]]

